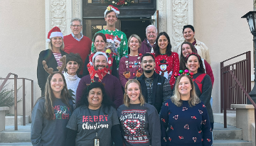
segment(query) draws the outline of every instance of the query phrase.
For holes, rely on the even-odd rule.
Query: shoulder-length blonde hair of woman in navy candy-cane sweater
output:
[[[187,77],[189,79],[189,82],[191,84],[191,91],[190,91],[190,98],[188,100],[188,104],[189,106],[196,106],[196,104],[201,103],[201,100],[198,98],[198,96],[196,95],[196,89],[195,86],[193,84],[193,81],[191,79],[191,77],[188,74],[181,74],[180,76],[178,76],[177,80],[176,80],[176,84],[174,87],[174,96],[171,96],[171,101],[178,107],[182,106],[182,101],[181,101],[181,94],[178,91],[178,84],[181,81],[182,77]]]

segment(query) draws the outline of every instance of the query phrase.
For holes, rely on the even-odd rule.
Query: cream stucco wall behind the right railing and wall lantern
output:
[[[253,74],[253,43],[245,18],[253,10],[249,1],[193,1],[195,37],[210,49],[210,60],[215,82],[213,112],[220,112],[220,62],[251,51]]]

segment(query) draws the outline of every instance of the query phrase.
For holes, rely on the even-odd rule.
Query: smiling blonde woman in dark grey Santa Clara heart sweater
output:
[[[160,120],[156,108],[144,101],[136,79],[124,86],[124,104],[117,109],[125,145],[161,145]]]

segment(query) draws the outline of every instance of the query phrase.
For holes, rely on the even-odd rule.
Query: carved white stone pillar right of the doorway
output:
[[[175,46],[183,42],[183,26],[193,25],[193,0],[159,0],[157,9],[159,32],[168,33],[171,45]]]

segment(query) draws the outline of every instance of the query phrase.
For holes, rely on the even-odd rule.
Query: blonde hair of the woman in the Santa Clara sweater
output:
[[[145,99],[144,96],[142,95],[142,86],[140,86],[139,82],[136,79],[129,79],[129,81],[127,81],[127,83],[124,86],[124,106],[129,107],[130,99],[127,95],[127,86],[131,83],[136,83],[139,85],[139,101],[141,101],[141,106],[143,106],[145,103]]]

